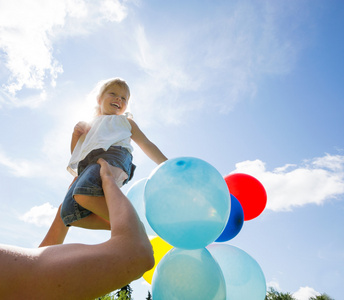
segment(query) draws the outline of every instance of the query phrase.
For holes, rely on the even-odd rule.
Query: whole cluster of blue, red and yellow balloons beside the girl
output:
[[[245,251],[221,242],[266,205],[254,177],[223,178],[209,163],[179,157],[136,182],[127,197],[152,240],[155,266],[143,275],[154,300],[263,300],[264,274]]]

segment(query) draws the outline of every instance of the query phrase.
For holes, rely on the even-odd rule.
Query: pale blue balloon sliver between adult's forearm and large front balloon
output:
[[[140,179],[136,181],[130,189],[127,191],[127,198],[130,200],[131,204],[134,206],[141,222],[145,226],[146,232],[148,235],[156,236],[152,227],[150,227],[145,212],[145,203],[144,203],[144,190],[147,178]]]

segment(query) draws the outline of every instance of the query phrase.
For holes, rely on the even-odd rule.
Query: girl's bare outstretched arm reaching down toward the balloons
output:
[[[161,164],[167,160],[167,157],[144,135],[137,124],[132,119],[128,119],[128,121],[131,125],[131,139],[142,149],[142,151],[157,164]]]

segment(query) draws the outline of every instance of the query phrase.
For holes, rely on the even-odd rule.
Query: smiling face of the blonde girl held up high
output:
[[[129,101],[129,91],[114,84],[98,98],[101,115],[122,115],[127,109]]]

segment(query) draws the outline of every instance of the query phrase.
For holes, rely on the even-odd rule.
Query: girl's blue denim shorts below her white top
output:
[[[61,218],[66,226],[86,218],[91,211],[79,205],[74,200],[74,195],[87,195],[94,197],[104,196],[102,181],[100,178],[100,165],[97,160],[103,158],[110,165],[121,168],[127,173],[126,184],[132,179],[136,166],[132,163],[131,153],[121,146],[111,146],[109,150],[96,149],[91,151],[84,160],[78,164],[78,177],[69,188],[61,207]],[[94,201],[97,201],[95,199]]]

